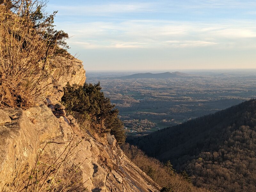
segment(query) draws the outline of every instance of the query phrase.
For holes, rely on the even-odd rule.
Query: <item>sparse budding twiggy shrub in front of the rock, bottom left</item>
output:
[[[74,164],[72,158],[79,152],[77,146],[82,140],[78,136],[73,136],[67,142],[47,142],[42,149],[38,149],[36,161],[32,168],[26,166],[21,171],[13,183],[10,185],[12,191],[58,191],[58,192],[83,192],[87,191],[84,187],[83,173],[80,169],[83,162]],[[65,145],[64,150],[56,156],[46,157],[50,150],[48,145]],[[88,159],[89,157],[86,157]]]

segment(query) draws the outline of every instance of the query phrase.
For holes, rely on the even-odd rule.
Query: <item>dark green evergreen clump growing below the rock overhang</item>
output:
[[[110,132],[115,136],[117,143],[124,143],[126,136],[124,124],[117,118],[119,111],[100,90],[100,82],[85,83],[84,86],[67,84],[62,102],[66,111],[73,115],[79,124],[90,121],[96,132]]]

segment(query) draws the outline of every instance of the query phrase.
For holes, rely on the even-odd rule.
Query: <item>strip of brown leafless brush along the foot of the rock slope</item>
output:
[[[205,192],[208,190],[196,188],[181,175],[170,171],[159,160],[148,157],[137,146],[125,143],[121,146],[124,154],[132,160],[143,172],[151,177],[159,186],[168,188],[170,192]]]

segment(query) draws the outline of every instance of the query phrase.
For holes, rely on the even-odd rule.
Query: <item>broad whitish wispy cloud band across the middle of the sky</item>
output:
[[[229,21],[220,24],[157,20],[127,20],[123,22],[66,23],[73,36],[69,43],[84,49],[95,48],[160,48],[205,47],[225,44],[239,45],[240,40],[256,37],[255,24]],[[64,28],[65,30],[65,28]],[[240,40],[239,40],[240,39]],[[256,45],[255,45],[256,46]]]

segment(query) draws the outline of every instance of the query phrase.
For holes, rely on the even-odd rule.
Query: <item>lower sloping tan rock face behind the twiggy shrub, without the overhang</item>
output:
[[[35,164],[36,148],[42,149],[46,142],[51,141],[44,148],[44,162],[44,159],[58,157],[65,150],[66,145],[58,143],[74,138],[75,143],[79,144],[74,149],[75,155],[63,169],[70,170],[83,162],[77,170],[77,177],[84,182],[83,187],[88,191],[159,191],[156,183],[133,164],[118,146],[110,146],[107,140],[96,141],[86,132],[81,132],[77,124],[71,126],[64,117],[55,117],[47,106],[26,111],[5,108],[4,112],[15,114],[18,118],[0,125],[0,191],[11,191],[16,175],[21,174],[27,164]],[[34,123],[31,119],[34,119]],[[68,119],[76,123],[72,116],[68,116]],[[110,138],[113,139],[112,136]],[[28,175],[25,175],[20,182],[27,178]]]

